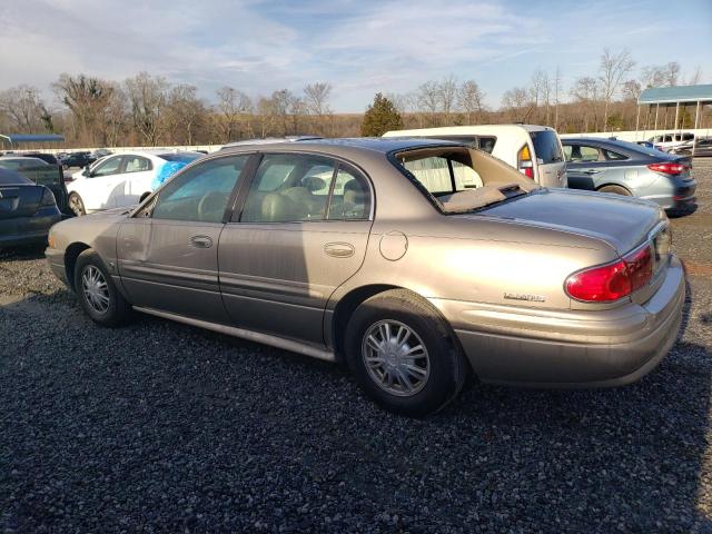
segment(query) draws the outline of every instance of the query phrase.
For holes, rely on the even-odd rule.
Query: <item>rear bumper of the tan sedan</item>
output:
[[[551,312],[434,299],[483,382],[527,387],[611,387],[652,370],[674,344],[685,281],[671,259],[643,305]]]

